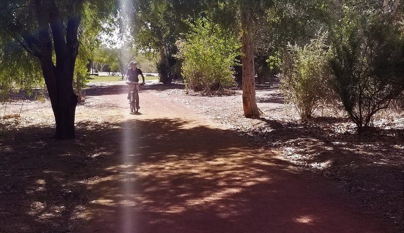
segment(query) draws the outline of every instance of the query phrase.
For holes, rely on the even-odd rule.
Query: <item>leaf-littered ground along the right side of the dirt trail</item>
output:
[[[337,181],[338,188],[369,208],[367,212],[404,228],[404,114],[381,112],[373,122],[376,128],[359,137],[355,125],[335,109],[298,121],[293,108],[285,108],[277,85],[257,86],[258,106],[264,112],[258,120],[243,117],[240,91],[221,97],[186,95],[177,84],[156,94],[220,122],[294,169]]]

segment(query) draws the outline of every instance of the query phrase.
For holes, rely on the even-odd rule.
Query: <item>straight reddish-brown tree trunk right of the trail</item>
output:
[[[249,9],[241,10],[242,27],[242,71],[243,71],[243,109],[246,118],[259,118],[260,110],[256,101],[255,70],[254,70],[254,44],[250,30],[251,12]]]

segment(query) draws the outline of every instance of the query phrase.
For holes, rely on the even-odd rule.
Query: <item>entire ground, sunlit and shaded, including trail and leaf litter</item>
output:
[[[48,102],[26,102],[22,118],[2,120],[0,232],[399,232],[390,217],[402,211],[402,130],[375,141],[327,135],[334,128],[323,126],[335,125],[333,119],[306,125],[268,115],[244,120],[239,95],[184,95],[181,85],[146,86],[135,115],[124,88],[86,91],[87,101],[77,107],[77,140],[51,138]],[[274,108],[260,108],[285,115],[276,105],[281,96],[271,95],[275,89],[262,91],[259,104]],[[363,145],[373,146],[364,154]],[[341,157],[357,159],[342,163]],[[313,168],[333,179],[306,171],[328,160],[324,169]],[[369,176],[373,186],[366,186]],[[361,192],[345,192],[380,191],[378,185],[387,194],[367,203],[357,199]],[[373,209],[381,202],[395,205],[386,218],[384,208]]]

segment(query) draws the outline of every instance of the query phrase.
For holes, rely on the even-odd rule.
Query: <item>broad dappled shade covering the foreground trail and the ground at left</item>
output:
[[[389,232],[338,190],[180,119],[81,122],[0,141],[4,232]]]

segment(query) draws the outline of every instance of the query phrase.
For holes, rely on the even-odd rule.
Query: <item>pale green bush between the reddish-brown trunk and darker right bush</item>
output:
[[[289,44],[283,59],[281,90],[286,102],[295,105],[303,120],[310,118],[328,95],[327,35],[320,33],[304,47]]]

